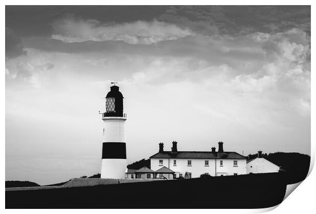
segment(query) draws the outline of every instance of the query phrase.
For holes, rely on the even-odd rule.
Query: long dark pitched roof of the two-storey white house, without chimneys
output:
[[[201,158],[201,159],[247,159],[237,152],[211,152],[211,151],[163,151],[149,158]]]

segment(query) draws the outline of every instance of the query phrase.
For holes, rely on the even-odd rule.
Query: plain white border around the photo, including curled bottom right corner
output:
[[[5,5],[43,5],[43,3],[45,3],[46,5],[130,5],[130,3],[133,3],[133,5],[148,5],[149,3],[152,3],[151,5],[236,5],[236,3],[238,3],[238,5],[312,5],[311,6],[311,19],[313,18],[313,4],[312,1],[271,1],[271,0],[266,0],[266,1],[200,1],[200,0],[196,0],[196,1],[166,1],[166,0],[161,0],[159,2],[149,2],[149,1],[114,1],[114,2],[109,2],[109,1],[60,1],[60,0],[55,0],[55,1],[3,1],[5,3]],[[5,7],[2,8],[2,14],[3,14],[3,18],[2,18],[2,25],[5,25]],[[311,20],[311,37],[313,38],[313,21]],[[4,29],[4,27],[2,28]],[[2,37],[2,41],[3,41],[3,47],[5,47],[5,34],[2,33],[1,34]],[[312,41],[314,41],[312,39]],[[312,42],[313,44],[313,42]],[[311,52],[313,52],[313,48],[311,48]],[[2,54],[5,55],[4,50],[2,51]],[[311,53],[311,56],[313,57],[313,53]],[[3,64],[5,64],[5,56],[2,56],[3,59]],[[313,62],[313,58],[311,59],[311,61]],[[3,68],[5,66],[3,65]],[[311,65],[311,70],[313,68],[313,63]],[[5,75],[2,74],[1,75],[1,89],[2,89],[2,100],[4,102],[2,102],[1,105],[1,109],[2,109],[2,117],[1,117],[1,139],[2,142],[5,142]],[[311,75],[311,83],[315,83],[315,77],[314,75]],[[315,93],[313,93],[315,90],[315,87],[313,87],[313,84],[311,84],[311,100],[313,102],[313,100],[315,100]],[[313,105],[312,105],[313,106]],[[315,114],[314,111],[311,111],[311,130],[316,130],[315,127]],[[311,166],[313,166],[314,164],[314,159],[315,159],[315,136],[314,136],[314,132],[311,132]],[[299,143],[299,142],[298,142]],[[3,173],[3,177],[5,177],[5,143],[3,143],[3,149],[2,149],[2,173]],[[307,178],[306,180],[304,180],[302,182],[302,184],[297,188],[297,190],[295,190],[295,192],[293,194],[291,194],[290,196],[288,196],[288,198],[286,198],[276,209],[273,209],[271,211],[271,213],[310,213],[312,211],[314,211],[314,196],[315,196],[315,173],[312,172]],[[4,182],[2,182],[2,185],[4,185]],[[4,190],[4,186],[2,188]],[[245,199],[246,200],[246,199]],[[5,191],[2,195],[2,207],[5,208]],[[271,210],[271,208],[270,208]],[[41,209],[29,209],[29,210],[5,210],[6,212],[36,212],[36,213],[42,213],[42,212],[47,212],[47,213],[55,213],[56,210],[41,210]],[[75,212],[75,213],[86,213],[86,212],[104,212],[104,210],[99,210],[99,209],[92,209],[92,210],[78,210],[78,209],[64,209],[64,210],[59,210],[59,212]],[[128,213],[161,213],[163,210],[147,210],[147,209],[134,209],[134,210],[108,210],[110,213],[118,213],[118,212],[128,212]],[[165,210],[166,211],[166,210]],[[165,212],[164,211],[164,212]],[[264,212],[264,211],[269,211],[268,209],[213,209],[213,210],[201,210],[201,209],[197,209],[197,210],[169,210],[169,211],[175,211],[175,212],[221,212],[221,213],[257,213],[257,212]]]

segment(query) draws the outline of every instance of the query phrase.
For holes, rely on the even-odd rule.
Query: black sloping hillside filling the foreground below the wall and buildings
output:
[[[265,208],[285,190],[279,173],[252,174],[7,191],[6,208]]]

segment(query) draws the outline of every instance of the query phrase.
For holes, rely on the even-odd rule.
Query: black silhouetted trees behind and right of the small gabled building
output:
[[[257,154],[250,154],[250,159],[256,158]],[[310,164],[310,156],[298,152],[265,153],[262,157],[278,165],[280,171],[285,174],[288,183],[297,183],[307,176]]]

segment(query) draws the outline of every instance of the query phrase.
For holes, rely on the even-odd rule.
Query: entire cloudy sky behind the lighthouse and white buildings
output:
[[[310,155],[310,6],[6,6],[6,180],[100,172],[104,96],[127,163],[171,150]]]

